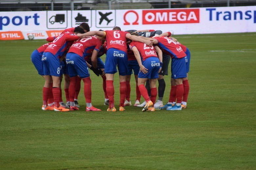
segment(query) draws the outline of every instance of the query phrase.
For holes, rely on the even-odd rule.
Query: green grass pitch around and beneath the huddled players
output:
[[[103,111],[85,112],[83,88],[80,110],[43,111],[44,80],[30,56],[45,41],[0,41],[0,169],[254,170],[256,33],[174,37],[191,63],[188,107],[172,112],[107,112],[92,72],[92,103]],[[165,82],[164,103],[170,74]],[[114,85],[118,108],[118,74]],[[131,88],[134,104],[133,76]]]

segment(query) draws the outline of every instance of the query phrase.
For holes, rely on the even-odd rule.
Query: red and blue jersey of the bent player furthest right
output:
[[[155,37],[154,39],[158,41],[157,45],[160,47],[160,49],[166,54],[170,55],[172,58],[180,59],[186,56],[181,46],[172,39],[165,36]]]

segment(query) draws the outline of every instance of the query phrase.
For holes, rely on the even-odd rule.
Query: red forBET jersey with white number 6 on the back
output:
[[[106,30],[107,49],[115,48],[127,53],[126,34],[120,30]]]

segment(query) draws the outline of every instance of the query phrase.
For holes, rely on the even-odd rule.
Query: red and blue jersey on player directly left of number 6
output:
[[[80,57],[84,57],[85,60],[90,61],[93,50],[99,51],[101,46],[102,42],[95,36],[91,36],[75,41],[68,52],[78,54]]]

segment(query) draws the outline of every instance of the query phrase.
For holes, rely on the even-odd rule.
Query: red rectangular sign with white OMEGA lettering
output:
[[[199,9],[142,10],[142,24],[199,23]]]

